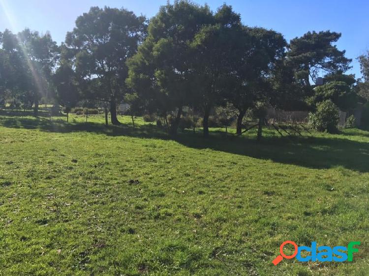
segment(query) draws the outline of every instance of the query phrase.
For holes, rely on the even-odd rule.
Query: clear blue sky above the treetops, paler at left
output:
[[[368,0],[196,0],[216,10],[223,2],[231,4],[248,26],[272,28],[287,41],[308,30],[332,30],[342,33],[337,45],[353,59],[349,73],[360,76],[356,57],[369,50]],[[91,6],[124,7],[152,17],[166,0],[0,0],[0,30],[18,32],[25,27],[50,31],[60,43],[72,30],[77,16]]]

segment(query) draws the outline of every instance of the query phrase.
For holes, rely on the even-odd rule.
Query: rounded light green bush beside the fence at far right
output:
[[[326,100],[317,104],[315,113],[309,113],[308,125],[316,131],[337,132],[339,121],[339,111],[331,100]]]

